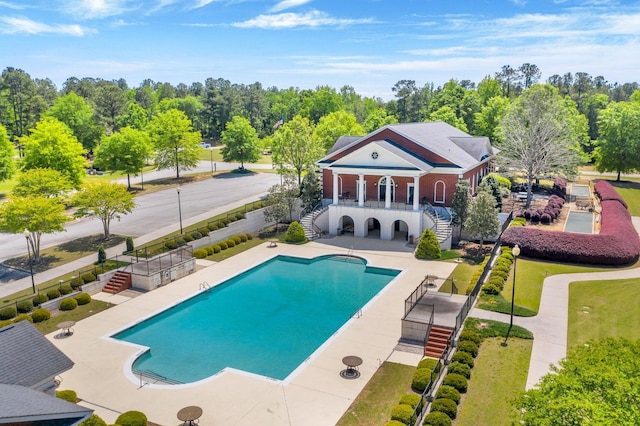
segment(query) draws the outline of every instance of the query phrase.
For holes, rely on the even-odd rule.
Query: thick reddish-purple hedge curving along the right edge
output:
[[[599,234],[509,227],[502,234],[502,242],[509,246],[517,244],[524,256],[537,259],[596,265],[635,262],[640,253],[640,238],[626,203],[607,181],[599,181],[594,189],[602,199]]]

